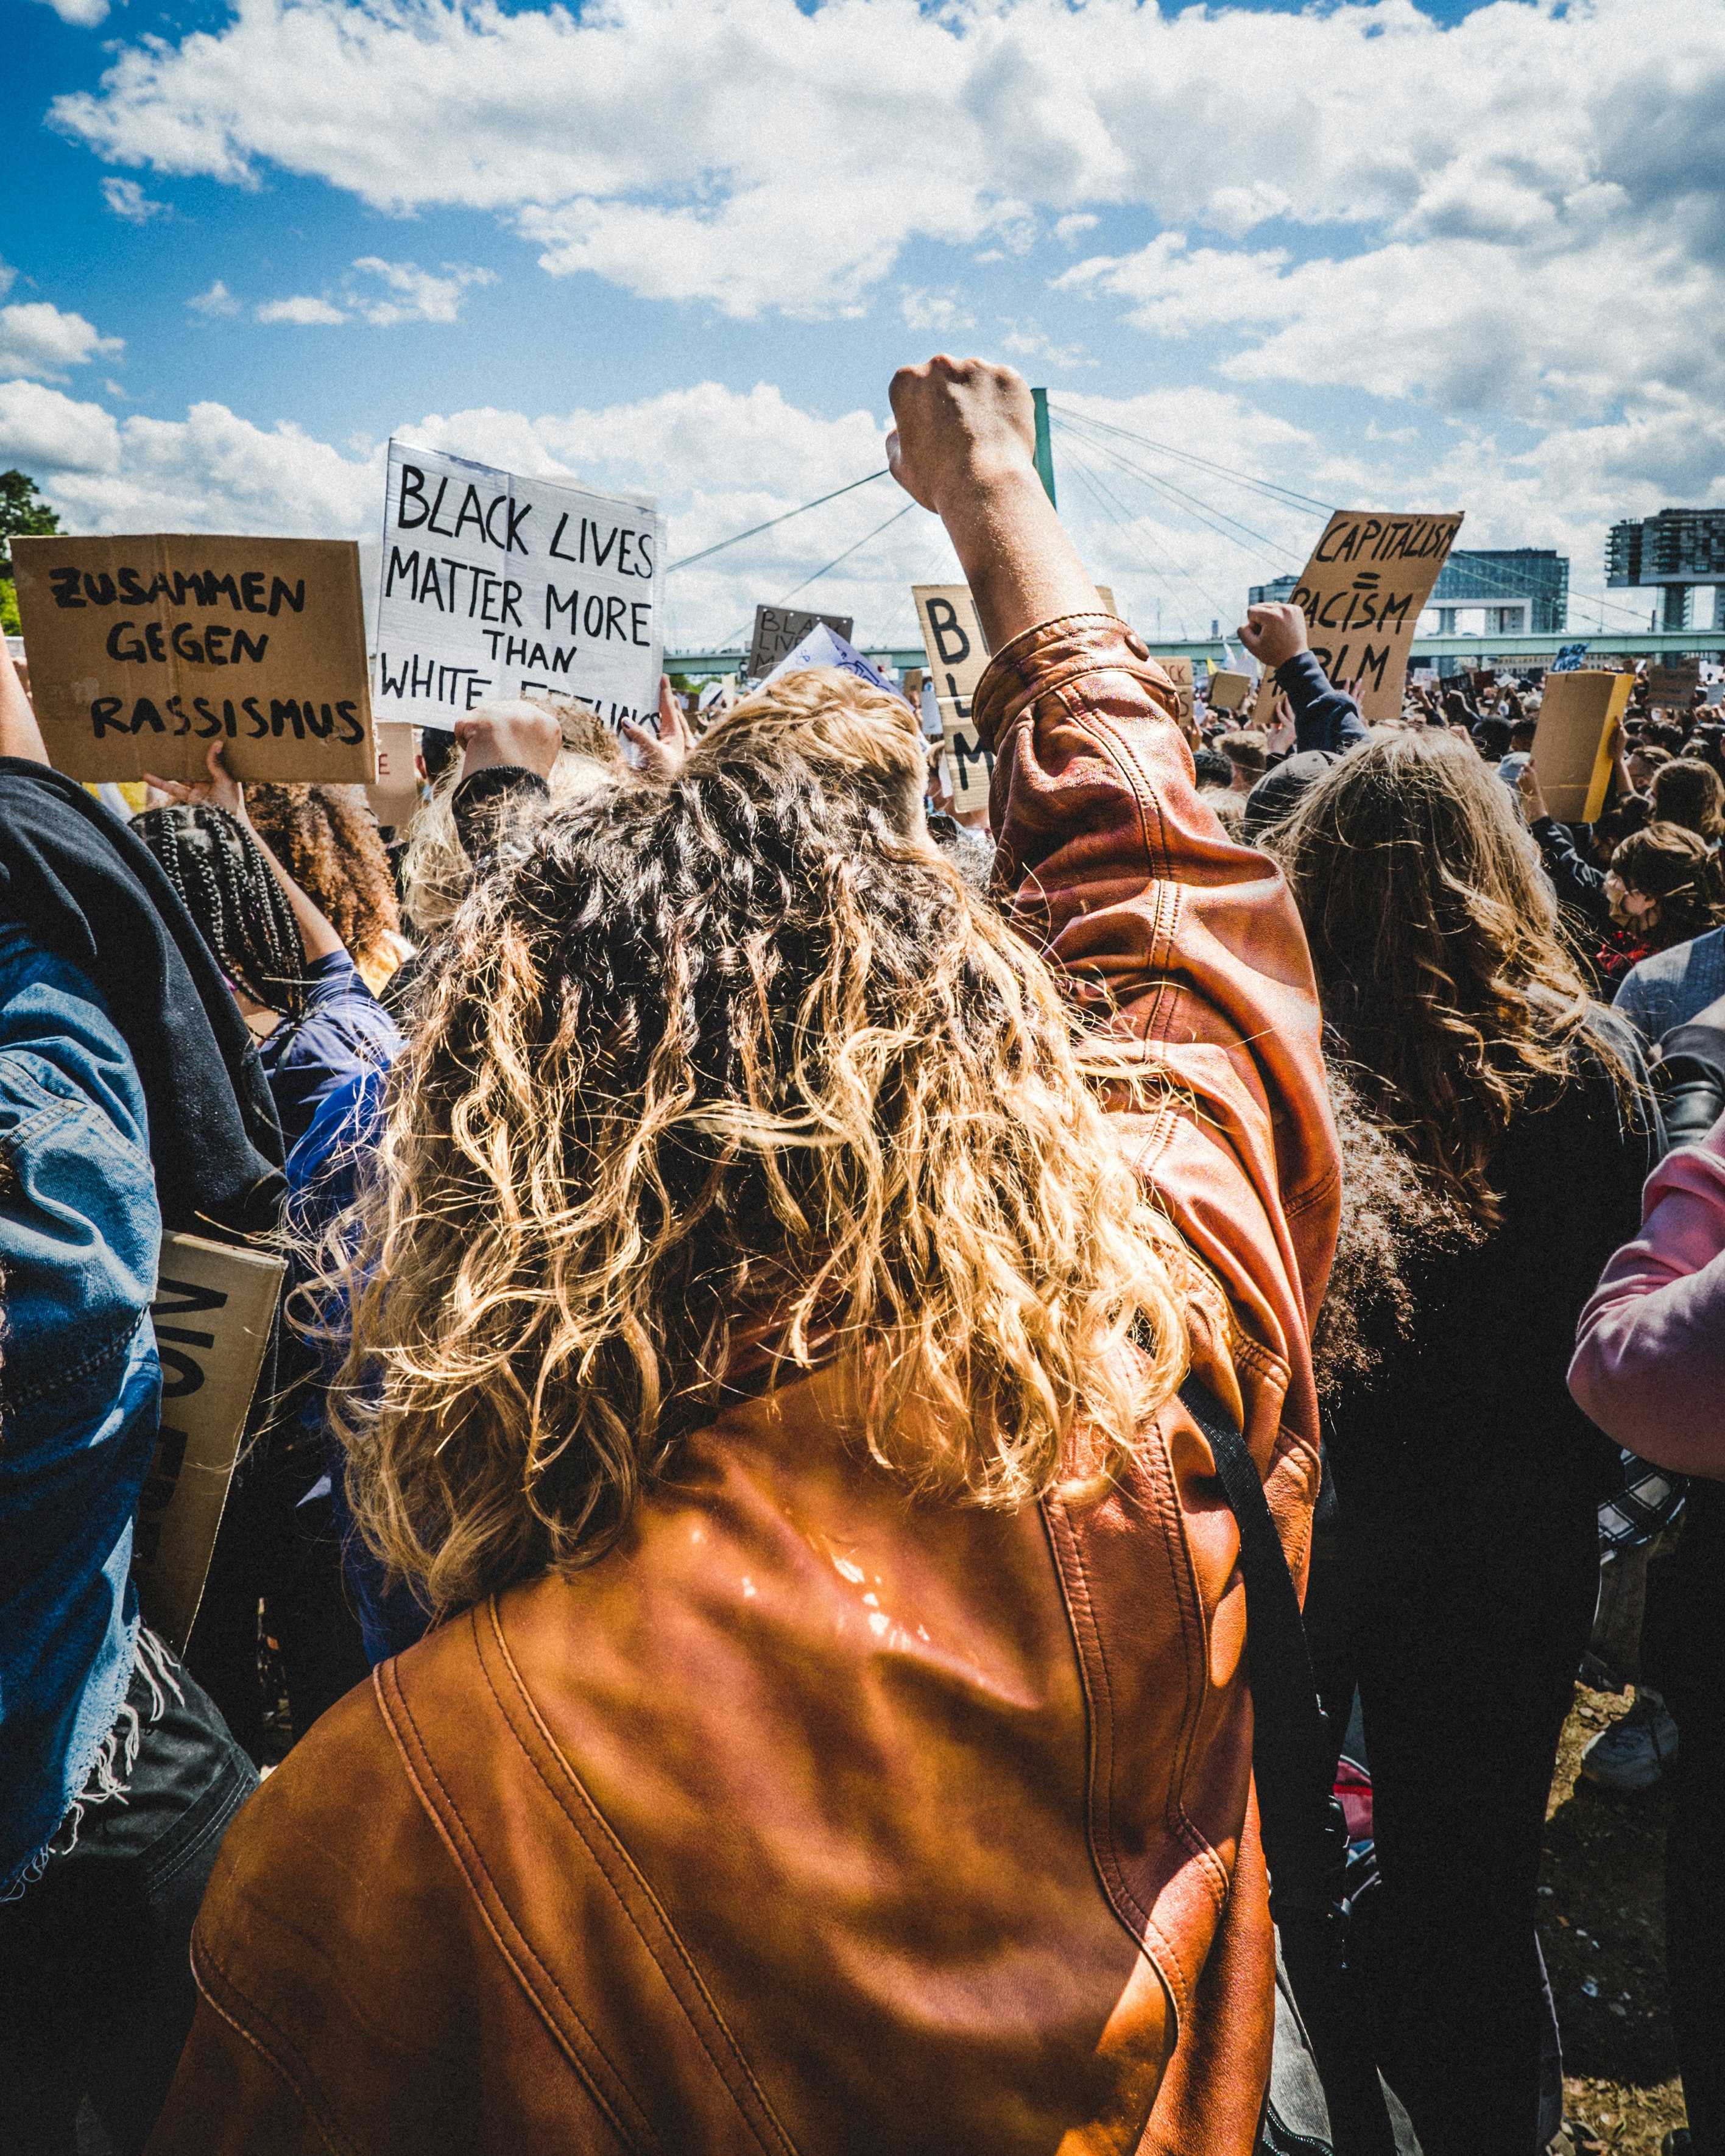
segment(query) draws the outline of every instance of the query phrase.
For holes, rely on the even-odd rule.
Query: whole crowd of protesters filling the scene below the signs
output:
[[[1725,729],[1559,824],[1292,606],[1182,722],[1024,384],[893,405],[985,832],[843,673],[127,821],[4,662],[2,2147],[1578,2147],[1587,1667],[1725,2152]],[[287,1257],[179,1643],[164,1231]]]

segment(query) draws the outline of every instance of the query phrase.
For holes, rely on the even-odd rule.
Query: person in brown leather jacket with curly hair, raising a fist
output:
[[[479,877],[345,1274],[356,1514],[444,1621],[229,1837],[155,2156],[1257,2143],[1238,1535],[1175,1386],[1298,1572],[1311,972],[1020,377],[893,405],[996,653],[1005,916],[843,675]]]

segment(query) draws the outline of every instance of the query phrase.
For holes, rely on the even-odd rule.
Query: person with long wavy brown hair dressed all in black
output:
[[[1561,2102],[1533,1932],[1546,1794],[1617,1479],[1565,1371],[1639,1220],[1656,1115],[1466,744],[1374,737],[1276,852],[1354,1093],[1473,1227],[1404,1263],[1412,1313],[1326,1421],[1382,1878],[1380,2065],[1427,2156],[1527,2156]]]

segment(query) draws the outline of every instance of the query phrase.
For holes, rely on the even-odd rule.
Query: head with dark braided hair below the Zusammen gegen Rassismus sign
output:
[[[132,830],[155,854],[244,1003],[300,1018],[306,946],[257,839],[226,808],[147,808]]]

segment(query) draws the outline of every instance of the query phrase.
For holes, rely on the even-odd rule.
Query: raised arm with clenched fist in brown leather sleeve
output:
[[[1339,1177],[1294,901],[1199,800],[1173,683],[1100,610],[1037,483],[1024,384],[932,360],[895,379],[893,410],[893,468],[940,509],[994,645],[975,720],[996,884],[1098,1026],[1167,1076],[1167,1104],[1121,1115],[1119,1138],[1257,1343],[1233,1360],[1259,1466],[1283,1423],[1315,1460],[1307,1335]]]

